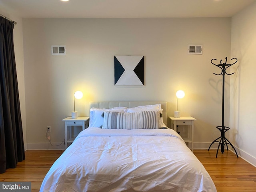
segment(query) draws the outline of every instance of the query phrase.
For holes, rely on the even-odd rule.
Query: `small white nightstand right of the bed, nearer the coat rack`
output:
[[[177,126],[187,126],[188,128],[188,136],[183,138],[184,142],[191,143],[191,150],[194,151],[194,120],[193,117],[190,116],[181,116],[180,118],[175,118],[170,116],[171,119],[171,128],[177,132]]]

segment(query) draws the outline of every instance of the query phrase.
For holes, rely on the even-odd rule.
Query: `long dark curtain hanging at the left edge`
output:
[[[0,17],[0,173],[25,159],[13,28]]]

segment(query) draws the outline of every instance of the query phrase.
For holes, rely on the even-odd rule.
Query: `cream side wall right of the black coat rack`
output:
[[[230,86],[230,139],[243,158],[256,166],[256,3],[232,17],[231,55],[238,58]]]

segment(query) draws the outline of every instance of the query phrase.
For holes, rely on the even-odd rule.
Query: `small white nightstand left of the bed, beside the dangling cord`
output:
[[[72,127],[74,126],[82,126],[82,130],[88,128],[89,117],[78,117],[76,119],[72,119],[71,117],[67,117],[62,119],[65,122],[65,149],[68,147],[68,143],[72,144],[76,136],[72,136]],[[69,132],[68,132],[69,128]],[[75,128],[75,127],[74,127]],[[69,134],[68,134],[69,133]]]

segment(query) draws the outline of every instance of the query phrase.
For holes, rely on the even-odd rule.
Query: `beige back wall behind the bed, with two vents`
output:
[[[99,100],[167,101],[172,116],[182,89],[181,115],[197,119],[195,148],[208,148],[220,135],[222,78],[210,60],[230,56],[231,18],[24,18],[23,34],[28,148],[51,148],[46,126],[53,143],[64,140],[73,90],[84,92],[76,102],[80,116]],[[188,55],[188,44],[203,44],[203,55]],[[51,45],[66,45],[66,56],[52,56]],[[144,86],[114,86],[115,55],[144,55]]]

